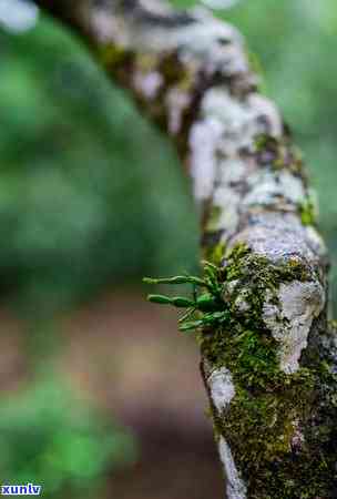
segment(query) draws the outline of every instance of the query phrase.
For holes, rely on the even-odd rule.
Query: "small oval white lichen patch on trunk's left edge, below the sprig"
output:
[[[218,413],[222,413],[235,397],[232,374],[226,367],[213,370],[207,379],[211,397]]]

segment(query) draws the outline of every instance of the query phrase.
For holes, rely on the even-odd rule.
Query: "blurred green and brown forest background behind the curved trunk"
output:
[[[304,151],[337,296],[336,1],[207,4],[246,35]],[[197,272],[188,182],[80,41],[23,7],[0,0],[1,482],[221,497],[196,346],[141,286]]]

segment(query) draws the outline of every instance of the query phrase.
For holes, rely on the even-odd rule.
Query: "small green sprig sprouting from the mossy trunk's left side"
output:
[[[222,279],[223,269],[210,262],[202,262],[204,277],[193,275],[177,275],[174,277],[151,278],[144,277],[146,284],[191,284],[192,297],[149,295],[149,302],[160,305],[172,305],[176,308],[185,308],[185,313],[178,319],[181,332],[193,332],[205,327],[216,327],[225,323],[229,317],[228,307],[223,298],[225,283]]]

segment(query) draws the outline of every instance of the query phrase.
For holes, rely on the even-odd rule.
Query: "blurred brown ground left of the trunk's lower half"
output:
[[[28,371],[22,326],[8,313],[0,336],[2,390]],[[144,301],[141,291],[110,293],[62,318],[60,371],[85,396],[132,428],[140,442],[135,466],[108,478],[103,498],[205,499],[222,496],[198,353],[178,335],[174,313]],[[65,498],[64,498],[65,499]]]

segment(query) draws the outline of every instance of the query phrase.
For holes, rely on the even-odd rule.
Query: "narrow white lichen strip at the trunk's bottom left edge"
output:
[[[224,437],[218,440],[218,452],[226,477],[227,499],[246,499],[247,488],[236,469],[231,448]]]

